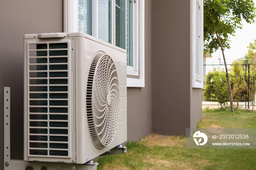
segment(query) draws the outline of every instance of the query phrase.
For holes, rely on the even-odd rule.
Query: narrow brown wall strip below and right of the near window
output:
[[[145,87],[127,88],[128,140],[149,135],[151,120],[151,0],[145,0]]]

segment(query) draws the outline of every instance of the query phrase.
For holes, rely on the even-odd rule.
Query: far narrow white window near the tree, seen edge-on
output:
[[[192,87],[203,88],[203,5],[202,0],[193,1],[193,72]]]

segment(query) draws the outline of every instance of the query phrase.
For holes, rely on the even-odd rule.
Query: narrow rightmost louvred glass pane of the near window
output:
[[[127,0],[127,66],[133,66],[132,0]]]

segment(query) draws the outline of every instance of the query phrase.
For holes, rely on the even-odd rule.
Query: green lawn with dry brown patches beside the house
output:
[[[197,128],[256,128],[256,113],[220,109],[203,111]],[[103,156],[98,169],[253,169],[255,149],[186,149],[184,136],[152,133],[126,144],[127,153]]]

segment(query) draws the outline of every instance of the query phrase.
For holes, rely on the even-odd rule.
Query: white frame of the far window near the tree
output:
[[[199,4],[200,8],[200,78],[196,76],[196,10],[197,5]],[[203,88],[203,0],[194,0],[192,1],[192,88]]]

